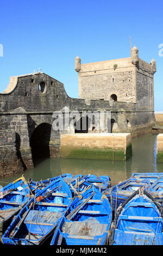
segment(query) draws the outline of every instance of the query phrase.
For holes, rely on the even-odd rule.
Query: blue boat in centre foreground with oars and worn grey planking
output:
[[[108,199],[95,187],[76,197],[54,232],[51,245],[105,245],[112,220]]]

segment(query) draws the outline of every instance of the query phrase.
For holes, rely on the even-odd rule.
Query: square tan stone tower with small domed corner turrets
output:
[[[80,99],[136,103],[154,110],[154,59],[147,63],[139,58],[136,46],[129,58],[81,64],[75,59]]]

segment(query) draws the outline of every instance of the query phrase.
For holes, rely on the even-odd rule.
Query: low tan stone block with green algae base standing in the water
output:
[[[127,160],[131,154],[130,133],[87,133],[61,135],[61,157]]]

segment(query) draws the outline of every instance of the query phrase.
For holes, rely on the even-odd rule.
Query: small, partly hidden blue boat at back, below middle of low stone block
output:
[[[95,187],[99,188],[100,191],[104,191],[111,186],[109,175],[97,176],[88,174],[84,176],[83,179],[89,184],[95,185]]]

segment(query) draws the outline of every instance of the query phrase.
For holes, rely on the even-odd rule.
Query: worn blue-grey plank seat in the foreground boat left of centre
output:
[[[25,218],[24,223],[53,225],[61,216],[62,212],[31,210]]]

